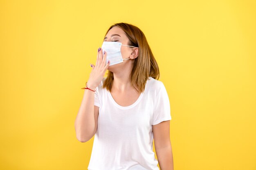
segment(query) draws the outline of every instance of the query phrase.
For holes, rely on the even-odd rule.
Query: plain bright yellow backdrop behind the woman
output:
[[[138,26],[167,89],[175,170],[256,170],[256,2],[0,1],[0,169],[87,170],[76,139],[108,27]],[[155,149],[154,149],[155,151]]]

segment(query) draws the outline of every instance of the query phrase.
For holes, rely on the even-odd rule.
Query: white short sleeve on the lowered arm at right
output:
[[[155,98],[152,125],[159,124],[166,120],[171,120],[171,108],[166,88],[161,82],[159,92],[157,92]]]

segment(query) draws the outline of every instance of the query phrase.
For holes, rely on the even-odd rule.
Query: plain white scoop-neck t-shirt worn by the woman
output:
[[[159,170],[152,125],[171,120],[164,84],[149,77],[137,101],[124,107],[102,89],[105,79],[94,92],[99,117],[88,170]]]

